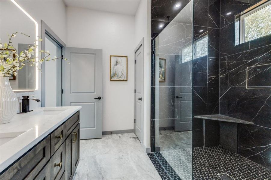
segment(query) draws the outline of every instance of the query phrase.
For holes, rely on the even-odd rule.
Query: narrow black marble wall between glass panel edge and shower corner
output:
[[[193,115],[218,114],[220,0],[194,0],[193,21]],[[206,52],[197,55],[196,43],[206,37]],[[219,122],[193,118],[192,124],[193,147],[219,145]]]

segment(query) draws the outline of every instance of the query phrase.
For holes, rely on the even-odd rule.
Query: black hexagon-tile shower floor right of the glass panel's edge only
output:
[[[221,146],[193,148],[193,179],[227,178],[266,180],[271,171]]]

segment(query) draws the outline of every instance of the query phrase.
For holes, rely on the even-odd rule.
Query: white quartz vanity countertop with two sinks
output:
[[[80,109],[81,106],[40,107],[0,124],[0,172]]]

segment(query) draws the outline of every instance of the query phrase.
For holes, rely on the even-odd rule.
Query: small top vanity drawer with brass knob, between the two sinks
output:
[[[65,123],[51,133],[51,157],[65,141]]]

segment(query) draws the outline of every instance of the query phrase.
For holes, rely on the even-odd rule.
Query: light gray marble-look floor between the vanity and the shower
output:
[[[160,180],[134,133],[80,140],[80,161],[74,180]]]

